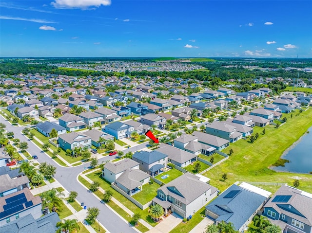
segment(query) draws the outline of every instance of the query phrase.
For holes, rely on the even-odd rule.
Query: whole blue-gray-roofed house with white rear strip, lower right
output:
[[[206,216],[216,225],[222,221],[231,222],[235,231],[244,232],[270,195],[248,183],[233,184],[206,206]]]

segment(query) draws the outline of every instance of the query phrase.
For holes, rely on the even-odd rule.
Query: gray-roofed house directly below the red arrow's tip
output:
[[[168,162],[179,167],[186,167],[196,161],[197,156],[185,150],[181,150],[168,144],[160,144],[155,151],[168,156]]]

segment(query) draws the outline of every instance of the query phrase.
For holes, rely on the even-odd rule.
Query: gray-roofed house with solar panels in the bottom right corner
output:
[[[312,232],[312,194],[282,185],[264,205],[263,215],[283,233]]]

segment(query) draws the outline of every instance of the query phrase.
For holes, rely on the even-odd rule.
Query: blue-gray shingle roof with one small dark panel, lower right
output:
[[[239,193],[232,198],[225,198],[231,191]],[[266,197],[233,184],[207,205],[206,209],[218,215],[216,221],[232,222],[238,231],[265,199]]]

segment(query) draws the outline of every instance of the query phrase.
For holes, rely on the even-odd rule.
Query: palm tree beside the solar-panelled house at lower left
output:
[[[59,193],[55,188],[43,192],[40,197],[43,207],[48,207],[52,212],[62,211],[61,206],[65,195]]]

